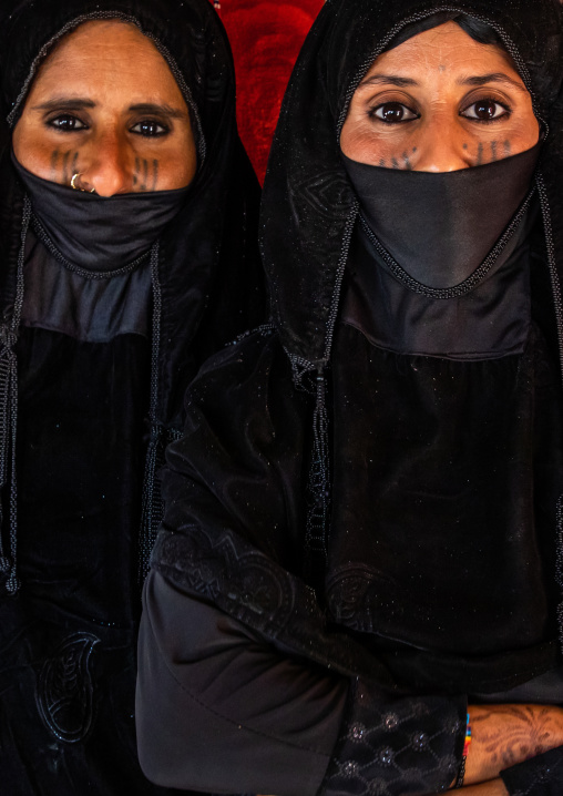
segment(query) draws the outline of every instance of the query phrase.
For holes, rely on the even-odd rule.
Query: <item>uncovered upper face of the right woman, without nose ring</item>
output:
[[[446,22],[376,59],[352,96],[340,147],[360,163],[451,172],[529,150],[539,134],[505,53]]]

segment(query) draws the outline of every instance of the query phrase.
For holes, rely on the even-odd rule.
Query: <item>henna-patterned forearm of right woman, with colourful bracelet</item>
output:
[[[553,705],[470,705],[472,741],[465,762],[464,785],[497,787],[504,768],[563,745],[563,710]],[[500,780],[499,780],[500,782]],[[504,786],[501,783],[501,788]],[[464,793],[465,789],[463,788]],[[504,790],[491,790],[491,796]],[[472,790],[467,788],[468,796]],[[475,796],[489,796],[475,790]]]

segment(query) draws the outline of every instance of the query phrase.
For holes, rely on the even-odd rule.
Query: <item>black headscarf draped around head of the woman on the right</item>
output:
[[[262,252],[274,320],[298,369],[324,367],[329,359],[358,214],[339,147],[351,96],[377,55],[403,28],[441,11],[490,24],[512,55],[534,112],[549,130],[538,184],[547,224],[556,213],[563,174],[563,41],[556,0],[328,0],[289,82],[263,194]],[[551,233],[552,278],[559,285],[563,218],[553,217]]]

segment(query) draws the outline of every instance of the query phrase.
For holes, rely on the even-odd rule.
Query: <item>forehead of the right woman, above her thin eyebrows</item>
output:
[[[510,55],[503,48],[481,44],[452,21],[418,33],[381,53],[373,61],[368,74],[380,69],[392,69],[393,73],[409,71],[411,76],[412,72],[421,75],[444,71],[504,72],[520,81]]]

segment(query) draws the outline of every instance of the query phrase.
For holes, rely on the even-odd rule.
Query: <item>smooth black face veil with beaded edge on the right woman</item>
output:
[[[453,287],[493,249],[533,184],[541,144],[455,172],[344,165],[371,231],[417,282]]]

